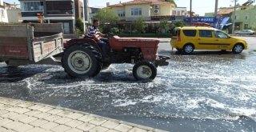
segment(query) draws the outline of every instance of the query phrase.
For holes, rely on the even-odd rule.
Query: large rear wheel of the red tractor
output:
[[[62,63],[71,77],[94,77],[101,70],[102,56],[94,46],[74,45],[64,51]]]

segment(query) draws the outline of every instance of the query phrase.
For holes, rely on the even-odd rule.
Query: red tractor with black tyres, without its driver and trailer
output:
[[[64,43],[62,66],[71,77],[94,77],[100,70],[112,63],[132,63],[134,78],[154,79],[157,66],[167,66],[169,57],[158,56],[157,38],[119,38],[110,37],[110,60],[102,61],[102,50],[90,38],[71,39]]]

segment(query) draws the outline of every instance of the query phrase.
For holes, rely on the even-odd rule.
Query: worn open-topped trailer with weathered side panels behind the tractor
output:
[[[10,66],[52,64],[46,61],[63,52],[60,23],[0,25],[0,62]]]

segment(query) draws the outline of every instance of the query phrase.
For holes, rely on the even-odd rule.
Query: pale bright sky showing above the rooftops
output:
[[[4,2],[14,3],[18,0],[3,0]],[[110,2],[110,5],[117,4],[119,2],[128,2],[131,0],[88,0],[90,7],[104,7],[106,2]],[[186,10],[190,10],[190,0],[174,0],[178,7],[186,7]],[[234,6],[232,0],[218,0],[218,7]],[[233,0],[234,1],[234,0]],[[238,3],[247,2],[248,0],[238,0]],[[192,10],[196,14],[203,16],[205,13],[214,12],[215,0],[192,0]]]

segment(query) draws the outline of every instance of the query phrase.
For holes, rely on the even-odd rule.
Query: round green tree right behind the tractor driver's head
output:
[[[118,22],[118,16],[114,14],[114,11],[109,9],[101,9],[94,15],[94,18],[97,18],[101,22],[100,28],[102,32],[110,32],[111,27],[116,26]]]

